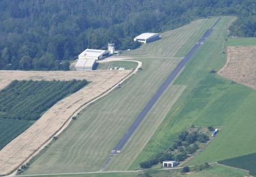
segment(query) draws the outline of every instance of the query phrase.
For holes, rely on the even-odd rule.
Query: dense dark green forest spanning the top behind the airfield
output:
[[[0,69],[68,70],[85,48],[137,48],[132,38],[196,18],[235,15],[231,35],[256,36],[255,0],[1,0]]]

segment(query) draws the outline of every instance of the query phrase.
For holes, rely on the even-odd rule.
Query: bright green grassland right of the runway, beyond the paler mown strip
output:
[[[190,125],[213,125],[221,127],[221,131],[189,165],[214,162],[255,151],[255,91],[211,74],[211,71],[218,71],[225,64],[225,38],[232,20],[232,17],[221,19],[212,36],[174,82],[186,85],[186,90],[130,169],[137,169],[141,161],[167,149],[178,133]]]

